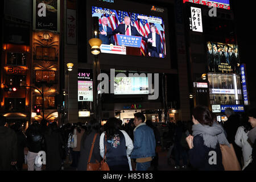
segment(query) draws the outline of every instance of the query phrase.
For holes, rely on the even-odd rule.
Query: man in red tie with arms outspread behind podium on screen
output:
[[[101,31],[101,35],[115,35],[115,34],[123,34],[123,35],[132,35],[132,36],[141,36],[142,40],[144,40],[145,42],[153,42],[152,39],[147,39],[144,36],[142,36],[141,34],[139,34],[139,32],[137,31],[137,29],[134,26],[131,26],[131,20],[129,16],[125,16],[125,24],[118,24],[118,27],[115,28],[115,30],[113,31]]]

